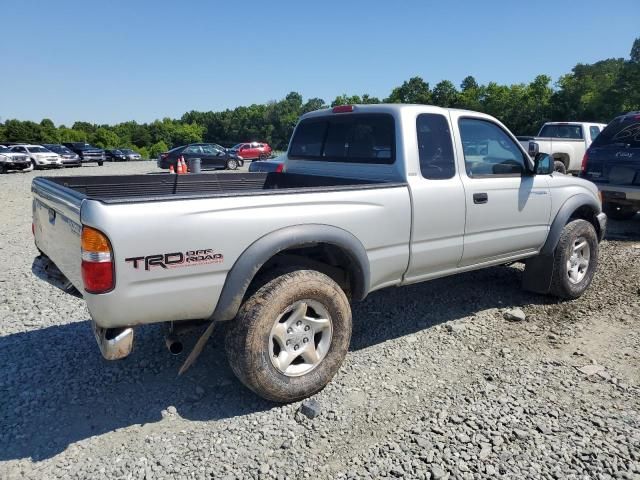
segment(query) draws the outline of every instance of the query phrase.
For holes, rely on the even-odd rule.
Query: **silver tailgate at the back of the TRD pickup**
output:
[[[35,178],[31,191],[36,247],[82,292],[80,206],[84,196],[44,178]]]

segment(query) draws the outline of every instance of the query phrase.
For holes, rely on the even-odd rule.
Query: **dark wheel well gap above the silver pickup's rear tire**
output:
[[[357,265],[347,252],[337,245],[317,243],[287,248],[267,260],[253,277],[245,298],[274,277],[296,269],[324,273],[340,285],[349,299],[354,289],[364,288],[358,285]]]

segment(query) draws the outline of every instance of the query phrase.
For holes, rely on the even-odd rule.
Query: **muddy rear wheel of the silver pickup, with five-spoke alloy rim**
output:
[[[267,400],[294,402],[320,391],[349,349],[351,307],[340,286],[314,270],[263,285],[227,331],[231,369]]]

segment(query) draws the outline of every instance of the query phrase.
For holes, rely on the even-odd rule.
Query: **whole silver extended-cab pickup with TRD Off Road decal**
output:
[[[596,187],[496,119],[424,105],[304,115],[281,173],[36,178],[35,242],[87,302],[106,358],[133,327],[231,322],[240,380],[281,402],[323,388],[369,293],[524,261],[526,289],[589,286]],[[192,352],[192,355],[194,352]],[[192,358],[192,357],[190,357]]]

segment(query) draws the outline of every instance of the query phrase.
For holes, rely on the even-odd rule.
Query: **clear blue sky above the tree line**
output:
[[[145,122],[414,75],[555,81],[627,57],[640,0],[3,0],[0,32],[1,121]]]

